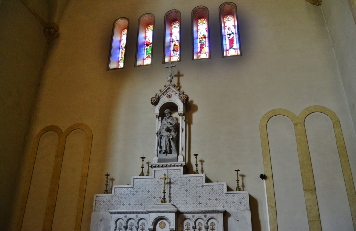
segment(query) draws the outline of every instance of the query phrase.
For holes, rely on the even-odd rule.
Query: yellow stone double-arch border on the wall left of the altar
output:
[[[83,207],[84,207],[86,183],[87,183],[88,171],[89,171],[90,152],[91,152],[91,146],[92,146],[92,140],[93,140],[93,133],[92,133],[91,129],[86,124],[83,124],[83,123],[73,124],[72,126],[67,128],[64,131],[64,133],[58,126],[55,126],[55,125],[47,126],[47,127],[43,128],[36,135],[34,144],[33,144],[33,148],[32,148],[31,154],[30,154],[30,160],[29,160],[29,164],[28,164],[28,170],[27,170],[27,175],[26,175],[26,180],[25,180],[25,185],[24,185],[24,191],[22,194],[22,200],[21,200],[21,205],[20,205],[20,212],[19,212],[19,218],[18,218],[18,222],[17,222],[16,231],[22,230],[23,217],[25,215],[28,193],[30,191],[32,173],[33,173],[33,169],[35,166],[36,155],[37,155],[40,138],[42,135],[44,135],[47,132],[55,132],[58,135],[57,150],[56,150],[56,156],[55,156],[55,161],[54,161],[54,166],[53,166],[53,171],[52,171],[52,179],[51,179],[51,185],[50,185],[50,189],[49,189],[49,193],[48,193],[48,200],[47,200],[47,206],[46,206],[46,212],[45,212],[45,216],[44,216],[42,231],[51,231],[52,230],[53,216],[54,216],[54,212],[55,212],[55,208],[56,208],[57,193],[58,193],[58,188],[59,188],[59,179],[60,179],[60,173],[61,173],[61,169],[62,169],[65,143],[66,143],[68,135],[72,131],[77,130],[77,129],[83,130],[87,136],[86,144],[85,144],[85,151],[84,151],[83,168],[82,168],[80,186],[79,186],[79,198],[78,198],[78,205],[77,205],[76,223],[75,223],[75,228],[74,228],[75,231],[80,231]]]

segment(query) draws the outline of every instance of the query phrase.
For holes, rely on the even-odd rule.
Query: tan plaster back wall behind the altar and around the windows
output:
[[[162,64],[163,19],[172,8],[182,14],[182,61],[175,63],[173,81],[191,100],[186,113],[189,173],[193,173],[193,154],[197,152],[200,173],[206,173],[213,182],[227,182],[234,189],[234,169],[238,166],[240,183],[250,193],[253,231],[268,230],[264,183],[258,176],[264,171],[259,122],[269,110],[284,108],[298,115],[311,105],[330,108],[340,119],[350,166],[355,173],[355,132],[322,9],[302,0],[233,0],[237,5],[242,56],[222,58],[218,7],[224,2],[180,0],[172,4],[165,0],[72,0],[68,3],[60,22],[60,36],[50,44],[43,67],[19,173],[12,230],[16,224],[28,154],[35,135],[43,127],[57,125],[65,130],[81,122],[93,131],[82,218],[84,231],[89,230],[93,195],[105,189],[104,174],[110,174],[114,185],[130,184],[131,177],[140,172],[139,157],[144,154],[148,157],[146,160],[152,159],[156,118],[149,100],[166,83],[168,69]],[[191,11],[198,5],[209,9],[211,59],[193,61]],[[138,18],[145,13],[155,16],[152,65],[134,67]],[[125,68],[107,71],[112,25],[120,17],[130,20]],[[178,117],[178,113],[173,116]],[[275,119],[268,124],[268,135],[275,171],[278,223],[280,230],[297,231],[300,230],[298,222],[305,223],[306,210],[300,189],[296,141],[291,123],[282,118]],[[316,120],[319,119],[325,118],[316,115]],[[345,186],[339,175],[340,166],[334,163],[339,160],[318,161],[318,158],[324,158],[323,145],[335,143],[332,128],[325,130],[326,136],[320,135],[324,130],[318,126],[308,129],[314,134],[313,167],[316,165],[321,173],[338,168],[335,182],[339,187],[327,187],[330,191],[325,194],[317,192],[318,199],[319,195],[322,198],[318,201],[319,207],[329,210],[327,203],[334,199],[333,193],[342,194],[338,199],[341,202],[335,206],[339,215],[345,217],[345,222],[338,229],[348,230],[352,221],[344,200],[346,194],[342,187]],[[83,142],[79,134],[71,139],[74,143]],[[40,142],[45,145],[50,141],[44,138]],[[73,153],[70,150],[74,148],[68,146],[66,152]],[[329,154],[337,156],[335,149]],[[69,169],[82,165],[79,157],[67,162]],[[147,165],[145,171],[152,173],[147,170]],[[326,189],[328,182],[328,175],[321,173],[315,177],[319,192]],[[61,181],[66,181],[71,176],[63,174],[61,177]],[[73,196],[70,192],[75,186],[62,184],[60,187],[63,192],[68,192],[67,197]],[[66,201],[65,196],[62,198],[60,208],[63,212],[63,208],[74,202]],[[296,208],[297,216],[290,207]],[[323,230],[335,230],[327,221],[332,218],[332,213],[323,214]],[[58,217],[53,230],[60,230],[59,225],[73,227],[73,224],[73,220]],[[308,229],[307,225],[303,228]]]

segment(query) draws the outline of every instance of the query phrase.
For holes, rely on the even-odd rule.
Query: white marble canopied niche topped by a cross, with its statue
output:
[[[185,155],[185,108],[189,105],[189,96],[180,91],[176,84],[172,84],[172,67],[176,65],[171,62],[166,65],[169,68],[168,84],[164,89],[151,98],[151,104],[155,106],[156,116],[156,144],[153,163],[184,162]],[[178,107],[179,124],[176,118],[171,116],[170,105]],[[165,117],[160,117],[161,110]]]

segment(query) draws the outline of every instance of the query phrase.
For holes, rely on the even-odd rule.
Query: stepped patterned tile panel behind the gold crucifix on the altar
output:
[[[98,194],[94,211],[149,209],[159,203],[163,196],[164,173],[171,178],[167,184],[167,201],[180,211],[188,210],[245,210],[248,206],[248,193],[225,193],[225,185],[204,185],[202,175],[181,174],[182,168],[154,170],[154,178],[134,178],[133,187],[114,187],[114,195]],[[170,193],[169,193],[170,192]]]

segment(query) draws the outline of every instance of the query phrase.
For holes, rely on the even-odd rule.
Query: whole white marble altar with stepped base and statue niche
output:
[[[151,98],[156,116],[152,176],[142,172],[132,177],[131,185],[96,194],[90,230],[251,231],[247,191],[227,191],[224,182],[207,183],[198,169],[186,174],[184,113],[189,97],[172,84],[174,65],[166,67],[168,84]],[[172,105],[178,108],[179,123],[167,109]]]

